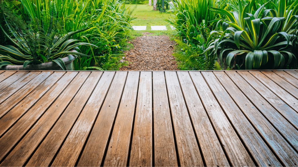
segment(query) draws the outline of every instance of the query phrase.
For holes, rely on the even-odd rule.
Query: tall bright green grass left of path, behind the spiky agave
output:
[[[102,57],[113,59],[120,55],[119,43],[123,42],[125,37],[119,38],[117,34],[126,34],[133,19],[124,2],[118,0],[20,0],[20,3],[18,7],[9,9],[16,11],[15,14],[22,18],[23,23],[37,20],[42,29],[61,36],[78,32],[72,34],[68,40],[77,39],[78,42],[96,46],[76,46],[80,53],[89,57],[76,59],[75,70],[98,67],[102,64]],[[6,7],[7,4],[8,2],[4,3]],[[7,19],[9,21],[9,18]],[[55,20],[59,20],[57,25],[60,27],[52,29]]]

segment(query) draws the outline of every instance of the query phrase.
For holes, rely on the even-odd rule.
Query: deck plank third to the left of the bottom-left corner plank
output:
[[[36,87],[38,87],[46,78],[49,77],[53,72],[42,72],[35,78],[33,78],[30,82],[28,82],[25,86],[23,86],[20,90],[15,92],[8,93],[11,94],[9,98],[7,96],[0,97],[0,118],[5,115],[11,108],[13,108],[18,102],[24,99],[30,92],[32,92]],[[2,93],[2,92],[1,92]],[[4,101],[5,100],[5,101]],[[3,102],[3,103],[2,103]]]

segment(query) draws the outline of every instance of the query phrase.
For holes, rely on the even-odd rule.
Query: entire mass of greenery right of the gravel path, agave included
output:
[[[297,69],[298,1],[174,2],[181,69]]]

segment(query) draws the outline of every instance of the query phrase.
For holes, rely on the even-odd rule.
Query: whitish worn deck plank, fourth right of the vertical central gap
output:
[[[189,72],[189,74],[232,166],[255,166],[201,73]]]

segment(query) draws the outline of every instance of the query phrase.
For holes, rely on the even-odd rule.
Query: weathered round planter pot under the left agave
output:
[[[76,52],[76,50],[73,50]],[[65,63],[66,70],[74,70],[73,61],[77,58],[75,55],[68,55],[64,57],[62,60]],[[31,64],[27,65],[26,68],[23,65],[7,65],[1,68],[1,70],[63,70],[57,63],[55,62],[47,62],[42,64]]]

